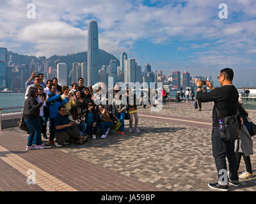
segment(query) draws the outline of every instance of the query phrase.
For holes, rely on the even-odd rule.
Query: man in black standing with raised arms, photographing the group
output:
[[[228,183],[234,186],[239,186],[234,140],[228,141],[226,138],[223,138],[219,128],[219,120],[221,118],[236,115],[237,113],[238,92],[236,87],[232,84],[233,77],[234,72],[232,69],[222,69],[218,77],[221,87],[214,89],[211,82],[206,81],[206,86],[211,89],[211,92],[201,91],[201,80],[198,80],[196,83],[196,99],[202,102],[214,101],[214,108],[212,111],[212,155],[215,159],[218,171],[218,182],[215,184],[208,184],[208,186],[212,189],[219,189],[222,191],[228,191]],[[220,117],[219,113],[222,117]],[[226,156],[229,164],[229,178],[227,176]]]

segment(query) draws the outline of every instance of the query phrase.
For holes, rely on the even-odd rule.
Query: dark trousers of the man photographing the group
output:
[[[218,179],[220,179],[221,175],[223,175],[223,173],[220,174],[220,170],[227,170],[227,157],[229,164],[229,178],[232,181],[238,181],[237,161],[234,148],[234,141],[227,141],[225,138],[221,139],[220,130],[215,127],[212,128],[212,155],[214,157],[216,168],[218,171]],[[227,179],[227,177],[224,179]],[[220,182],[223,181],[220,180]],[[226,184],[227,183],[224,182],[222,185]]]

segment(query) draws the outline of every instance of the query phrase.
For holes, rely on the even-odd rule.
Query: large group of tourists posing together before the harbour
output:
[[[32,81],[33,80],[33,81]],[[87,141],[88,136],[96,139],[97,131],[101,138],[106,138],[111,129],[118,123],[117,135],[124,136],[124,120],[129,119],[129,132],[140,133],[138,129],[137,106],[138,97],[128,87],[125,91],[119,88],[113,90],[113,103],[108,105],[108,93],[99,94],[102,89],[93,91],[92,87],[84,87],[83,78],[78,84],[72,83],[72,88],[58,85],[58,79],[53,78],[44,83],[44,75],[32,74],[27,85],[23,119],[28,126],[28,144],[26,150],[44,149],[42,137],[47,137],[47,121],[49,120],[49,143],[61,147],[68,143],[74,144],[76,138]],[[98,94],[97,94],[98,92]],[[106,105],[95,103],[102,98]],[[127,103],[122,103],[122,99]],[[99,104],[99,105],[96,105]],[[132,128],[133,117],[135,119]],[[54,138],[56,140],[54,140]]]

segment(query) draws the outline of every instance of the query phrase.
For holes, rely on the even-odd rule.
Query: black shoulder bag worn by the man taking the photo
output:
[[[217,114],[220,116],[220,112],[218,111],[217,106],[215,106]],[[240,138],[240,129],[241,129],[241,123],[240,123],[240,116],[239,111],[237,108],[236,115],[231,115],[227,117],[220,117],[220,119],[225,124],[225,131],[221,131],[226,136],[227,141],[237,140]],[[220,128],[219,128],[220,129]]]

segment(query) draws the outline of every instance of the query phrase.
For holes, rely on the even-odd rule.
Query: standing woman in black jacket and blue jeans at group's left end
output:
[[[36,87],[29,89],[28,98],[24,103],[23,117],[29,129],[28,143],[26,150],[44,149],[41,138],[41,120],[40,120],[40,107],[44,104],[44,96],[41,96],[41,102],[38,103],[36,98],[38,90]],[[35,138],[35,146],[32,145]]]

